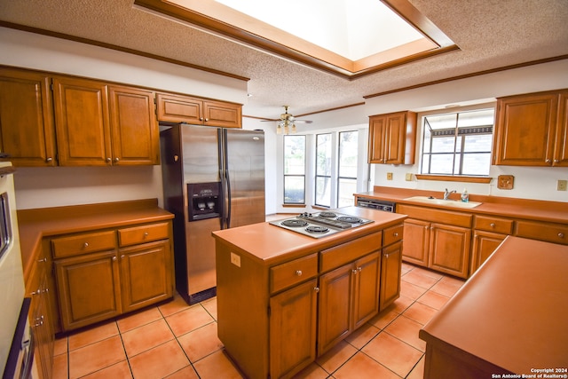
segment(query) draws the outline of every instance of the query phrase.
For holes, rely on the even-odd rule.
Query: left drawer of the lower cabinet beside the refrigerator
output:
[[[83,233],[51,240],[54,258],[78,256],[94,251],[114,249],[115,247],[114,231]]]

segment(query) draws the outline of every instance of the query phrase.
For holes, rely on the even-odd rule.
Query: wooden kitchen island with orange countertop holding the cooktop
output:
[[[312,238],[261,223],[213,233],[218,336],[247,377],[290,377],[399,295],[404,215]]]

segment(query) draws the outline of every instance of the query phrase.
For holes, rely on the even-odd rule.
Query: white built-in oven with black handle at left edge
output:
[[[3,378],[27,378],[34,350],[12,173],[11,162],[0,162],[0,368]]]

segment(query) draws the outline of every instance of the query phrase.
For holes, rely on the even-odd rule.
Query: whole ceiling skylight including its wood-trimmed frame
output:
[[[408,0],[134,0],[347,79],[458,47]]]

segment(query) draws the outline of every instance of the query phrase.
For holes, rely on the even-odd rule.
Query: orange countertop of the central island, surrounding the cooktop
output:
[[[225,243],[239,249],[241,253],[247,254],[255,260],[262,261],[266,265],[272,265],[283,259],[300,257],[316,249],[327,249],[344,241],[381,231],[390,225],[402,223],[406,218],[406,215],[359,207],[345,207],[335,210],[347,215],[371,219],[374,222],[320,239],[295,233],[269,223],[220,230],[213,232],[213,237],[225,241]]]

